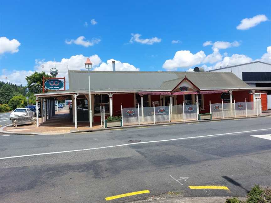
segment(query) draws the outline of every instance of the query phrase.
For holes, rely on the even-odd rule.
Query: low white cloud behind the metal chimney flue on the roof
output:
[[[101,63],[100,66],[94,68],[94,70],[103,70],[103,71],[112,71],[112,61],[115,61],[116,71],[139,71],[139,68],[129,64],[129,63],[122,63],[118,60],[109,59],[107,62]]]

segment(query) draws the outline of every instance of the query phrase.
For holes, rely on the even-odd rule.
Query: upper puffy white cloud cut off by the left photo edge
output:
[[[17,39],[9,40],[6,37],[0,37],[0,55],[8,53],[16,53],[19,51],[18,47],[21,45]]]

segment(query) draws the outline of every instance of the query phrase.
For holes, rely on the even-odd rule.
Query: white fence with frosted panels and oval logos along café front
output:
[[[138,105],[139,106],[139,105]],[[122,109],[122,108],[121,108]],[[261,115],[261,99],[255,102],[236,102],[210,104],[212,118],[230,118]],[[138,107],[122,109],[123,125],[140,125],[161,122],[193,121],[198,119],[199,107],[194,105],[175,105],[159,107]]]

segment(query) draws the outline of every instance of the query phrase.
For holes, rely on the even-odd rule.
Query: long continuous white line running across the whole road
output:
[[[234,132],[234,133],[222,133],[222,134],[214,134],[214,135],[203,135],[203,136],[195,136],[195,137],[187,137],[187,138],[175,138],[175,139],[155,140],[155,141],[147,141],[147,142],[139,142],[139,143],[127,143],[127,144],[120,144],[120,145],[113,145],[113,146],[106,146],[106,147],[96,147],[96,148],[88,148],[88,149],[76,149],[76,150],[68,150],[68,151],[60,151],[60,152],[48,152],[48,153],[40,153],[40,154],[27,154],[27,155],[19,155],[19,156],[11,156],[11,157],[2,157],[0,159],[12,159],[12,158],[29,157],[29,156],[39,156],[39,155],[47,155],[47,154],[61,154],[61,153],[67,153],[67,152],[82,152],[82,151],[89,151],[89,150],[94,150],[94,149],[122,147],[122,146],[127,146],[127,145],[132,145],[132,144],[168,142],[168,141],[182,140],[182,139],[205,138],[205,137],[212,137],[212,136],[218,136],[218,135],[231,135],[231,134],[237,134],[237,133],[250,133],[250,132],[256,132],[256,131],[263,131],[263,130],[271,130],[271,128],[258,129],[258,130],[248,130],[248,131],[240,131],[240,132]]]

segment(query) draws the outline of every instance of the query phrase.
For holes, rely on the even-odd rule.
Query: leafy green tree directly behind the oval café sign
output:
[[[46,74],[44,71],[36,72],[32,75],[26,76],[27,87],[29,88],[30,92],[34,94],[39,94],[42,92],[42,77],[52,77]]]

